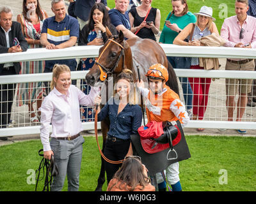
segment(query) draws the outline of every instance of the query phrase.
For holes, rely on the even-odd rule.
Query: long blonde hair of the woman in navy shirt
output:
[[[127,80],[127,82],[130,83],[130,92],[129,92],[129,105],[136,105],[138,104],[138,92],[136,87],[134,86],[134,80],[132,76],[132,71],[130,69],[124,69],[120,74],[116,77],[116,83],[115,83],[115,90],[114,90],[114,97],[117,97],[116,94],[116,84],[119,80],[124,79]]]

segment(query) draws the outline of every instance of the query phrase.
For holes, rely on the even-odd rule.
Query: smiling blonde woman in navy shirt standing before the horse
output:
[[[112,160],[124,159],[131,145],[131,135],[137,133],[141,126],[142,111],[136,98],[136,87],[133,86],[132,71],[124,69],[117,77],[114,97],[110,98],[100,110],[98,120],[109,117],[110,126],[104,155]],[[100,104],[101,98],[95,98],[95,104]],[[131,152],[130,152],[131,153]],[[120,164],[105,162],[108,183],[113,178]]]

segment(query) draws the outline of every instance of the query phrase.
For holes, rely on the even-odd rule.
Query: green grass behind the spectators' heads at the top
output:
[[[224,18],[219,17],[219,13],[223,8],[219,8],[220,4],[227,4],[228,9],[228,17],[232,15],[236,15],[235,13],[235,1],[232,0],[188,0],[188,8],[189,11],[192,13],[197,13],[200,11],[200,8],[202,6],[211,6],[213,10],[213,17],[216,18],[216,25],[218,27],[218,30],[220,32],[221,25],[223,24]],[[108,0],[108,6],[109,8],[115,7],[115,1],[114,0]],[[158,8],[161,11],[161,25],[160,29],[163,29],[164,20],[167,17],[168,13],[172,10],[172,1],[171,0],[153,0],[152,1],[152,7]]]

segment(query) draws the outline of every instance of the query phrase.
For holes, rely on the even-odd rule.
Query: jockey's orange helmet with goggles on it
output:
[[[146,76],[149,78],[161,78],[166,82],[169,78],[168,70],[162,64],[153,64],[152,66],[150,66],[150,68],[148,68]]]

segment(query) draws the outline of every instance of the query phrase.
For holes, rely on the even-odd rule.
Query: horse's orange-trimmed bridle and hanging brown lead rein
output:
[[[106,69],[102,64],[99,63],[99,60],[100,60],[100,57],[102,56],[102,54],[105,52],[106,48],[108,48],[108,46],[111,44],[111,43],[115,43],[116,45],[118,45],[122,50],[119,54],[119,57],[117,59],[117,61],[115,62],[115,64],[113,65],[113,67],[111,69]],[[100,81],[104,82],[104,80],[106,80],[108,78],[108,75],[109,74],[113,74],[113,72],[115,71],[115,68],[117,67],[118,65],[118,62],[120,61],[121,57],[124,55],[124,47],[120,44],[120,43],[117,43],[116,41],[112,40],[112,39],[109,39],[109,42],[108,42],[108,45],[106,45],[106,47],[104,48],[104,50],[102,51],[102,53],[100,54],[99,58],[95,61],[95,64],[97,64],[97,66],[99,66],[99,69],[100,69]],[[124,62],[123,62],[123,67],[124,67]],[[98,122],[98,105],[96,105],[96,112],[95,112],[95,119],[94,119],[94,130],[95,130],[95,138],[97,140],[97,145],[98,145],[98,148],[99,148],[99,152],[100,152],[100,155],[102,156],[102,158],[107,161],[108,163],[111,163],[111,164],[122,164],[124,162],[124,159],[122,160],[118,160],[118,161],[112,161],[110,159],[108,159],[106,156],[104,156],[102,150],[100,149],[100,145],[99,145],[99,139],[98,139],[98,128],[97,128],[97,122]]]

